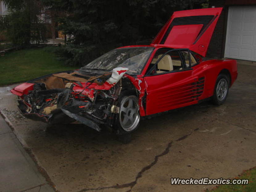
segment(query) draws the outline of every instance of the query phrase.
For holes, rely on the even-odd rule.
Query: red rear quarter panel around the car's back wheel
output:
[[[217,77],[222,70],[227,69],[230,73],[230,87],[237,79],[237,62],[233,59],[202,61],[192,68],[193,75],[196,76],[203,73],[205,77],[204,93],[200,96],[199,100],[213,96]]]

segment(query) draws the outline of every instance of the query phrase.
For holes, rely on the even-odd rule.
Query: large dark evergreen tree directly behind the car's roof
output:
[[[83,66],[115,47],[148,44],[173,11],[192,9],[192,1],[69,0],[69,15],[60,20],[70,37],[66,61]]]

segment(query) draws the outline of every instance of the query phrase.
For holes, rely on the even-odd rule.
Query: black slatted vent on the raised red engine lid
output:
[[[198,16],[189,16],[189,17],[177,17],[174,18],[173,21],[171,22],[170,26],[168,27],[167,31],[165,32],[163,39],[161,40],[160,44],[164,44],[168,35],[171,32],[171,29],[174,26],[177,25],[203,25],[202,29],[200,30],[198,36],[201,36],[202,33],[204,32],[204,29],[208,26],[210,22],[213,22],[213,20],[216,17],[214,15],[198,15]],[[196,38],[197,41],[198,38]],[[195,41],[195,43],[196,43]]]

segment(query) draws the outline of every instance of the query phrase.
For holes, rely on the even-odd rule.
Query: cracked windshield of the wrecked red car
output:
[[[141,73],[154,47],[120,48],[101,55],[81,69],[112,70],[116,67],[127,67],[130,75]]]

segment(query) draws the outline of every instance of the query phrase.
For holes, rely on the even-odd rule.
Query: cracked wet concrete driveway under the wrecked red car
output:
[[[0,88],[0,109],[60,192],[198,192],[213,186],[175,186],[170,178],[233,178],[256,165],[255,74],[256,65],[239,63],[224,105],[143,120],[126,145],[81,125],[47,129],[24,119],[9,92],[14,86]]]

